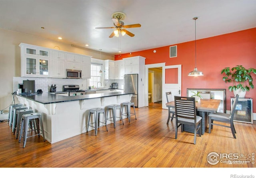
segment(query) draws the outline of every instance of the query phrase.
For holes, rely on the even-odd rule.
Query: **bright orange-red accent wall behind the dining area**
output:
[[[177,45],[177,57],[169,57],[169,47]],[[166,63],[182,65],[182,96],[186,96],[187,88],[225,88],[227,110],[230,110],[230,97],[233,92],[228,90],[230,83],[222,80],[220,70],[224,67],[243,65],[256,68],[256,28],[227,33],[205,39],[196,40],[196,67],[204,72],[204,76],[188,76],[195,67],[195,43],[171,44],[144,51],[116,55],[115,60],[126,57],[146,57],[145,64]],[[156,50],[156,53],[153,51]],[[256,113],[256,76],[253,76],[254,89],[246,93],[253,99],[253,112]]]

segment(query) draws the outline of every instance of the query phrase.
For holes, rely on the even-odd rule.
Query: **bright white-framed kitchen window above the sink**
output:
[[[100,70],[102,71],[102,64],[91,63],[91,78],[89,86],[97,87],[98,82],[102,83],[102,73],[100,73]]]

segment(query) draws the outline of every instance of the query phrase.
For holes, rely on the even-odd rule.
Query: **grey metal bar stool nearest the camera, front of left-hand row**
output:
[[[28,136],[28,123],[32,119],[34,119],[36,121],[36,131],[37,131],[37,133],[35,135]],[[38,137],[40,137],[39,123],[40,123],[40,126],[41,126],[42,135],[44,137],[44,127],[43,127],[43,121],[42,121],[42,114],[36,112],[36,113],[30,113],[30,114],[23,114],[22,115],[19,142],[21,140],[21,137],[23,136],[23,148],[25,148],[27,138],[33,137],[33,136],[36,136],[36,135],[38,135]],[[34,130],[31,130],[31,131],[34,131]],[[23,132],[23,135],[22,135],[22,132]],[[44,141],[45,141],[45,137],[44,137]]]

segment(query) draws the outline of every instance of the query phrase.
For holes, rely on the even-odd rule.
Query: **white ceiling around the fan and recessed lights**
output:
[[[256,27],[256,0],[0,0],[0,28],[116,55],[114,29],[95,29],[114,26],[114,12],[141,24],[120,37],[122,53],[192,41],[194,17],[196,39]]]

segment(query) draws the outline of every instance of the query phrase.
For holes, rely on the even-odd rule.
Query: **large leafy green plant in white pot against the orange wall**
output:
[[[244,98],[246,91],[249,91],[250,88],[254,88],[252,83],[253,78],[251,74],[256,74],[255,68],[244,68],[242,65],[236,65],[230,69],[230,67],[225,67],[221,70],[221,74],[225,74],[222,79],[224,82],[232,83],[231,86],[228,87],[228,90],[234,92],[234,96],[239,94],[240,98]]]

